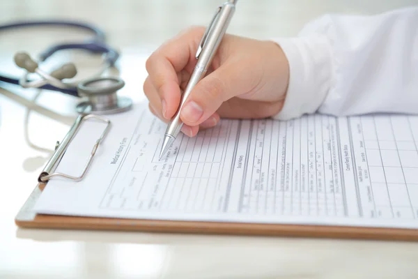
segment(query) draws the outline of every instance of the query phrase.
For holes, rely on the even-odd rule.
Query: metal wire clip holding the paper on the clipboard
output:
[[[91,150],[90,156],[88,156],[88,160],[87,160],[86,165],[84,165],[84,169],[82,170],[82,174],[80,174],[79,176],[70,176],[68,174],[63,174],[63,173],[60,173],[60,172],[54,172],[56,167],[59,165],[59,162],[63,158],[63,155],[64,155],[65,151],[67,150],[68,145],[70,144],[72,139],[75,137],[77,131],[80,128],[80,126],[82,126],[82,123],[84,121],[88,121],[89,119],[98,119],[100,121],[103,121],[104,123],[107,123],[107,126],[106,126],[106,128],[104,128],[104,131],[103,131],[102,135],[100,135],[98,140],[96,140],[95,144],[93,145],[93,149]],[[98,116],[98,115],[95,115],[95,114],[79,115],[77,117],[77,119],[75,120],[75,122],[72,124],[72,126],[71,126],[70,130],[68,131],[67,135],[65,135],[65,137],[63,138],[62,142],[57,143],[54,154],[52,154],[52,156],[49,159],[47,165],[45,165],[45,168],[42,170],[42,172],[40,173],[40,175],[38,177],[38,182],[39,183],[46,183],[47,181],[49,181],[49,179],[51,179],[54,176],[61,176],[61,177],[64,177],[65,179],[71,179],[71,180],[74,180],[74,181],[82,180],[84,178],[84,175],[87,172],[88,167],[90,167],[90,165],[91,165],[91,161],[93,160],[93,156],[95,155],[95,152],[97,151],[98,146],[100,145],[100,143],[104,139],[104,136],[107,134],[107,131],[109,130],[109,127],[110,127],[110,120],[105,119],[102,116]]]

